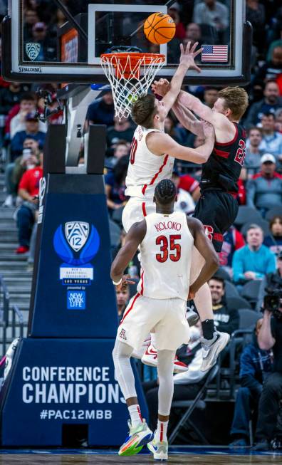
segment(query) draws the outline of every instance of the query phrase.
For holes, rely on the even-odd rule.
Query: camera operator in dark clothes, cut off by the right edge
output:
[[[282,290],[281,283],[277,287]],[[281,301],[280,301],[281,302]],[[282,307],[275,311],[265,306],[263,324],[258,333],[258,346],[261,350],[273,351],[273,373],[263,383],[258,404],[256,424],[256,450],[270,449],[270,442],[276,432],[276,422],[282,399]]]

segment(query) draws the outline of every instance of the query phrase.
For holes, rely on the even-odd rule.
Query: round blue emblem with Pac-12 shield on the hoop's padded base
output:
[[[64,227],[60,224],[56,229],[53,246],[64,263],[81,266],[89,263],[97,254],[100,248],[100,236],[93,224],[85,221],[68,221]]]

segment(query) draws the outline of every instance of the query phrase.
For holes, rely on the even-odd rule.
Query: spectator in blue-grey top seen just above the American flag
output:
[[[204,0],[195,5],[193,21],[197,24],[209,24],[219,33],[224,33],[229,27],[229,10],[219,1]]]

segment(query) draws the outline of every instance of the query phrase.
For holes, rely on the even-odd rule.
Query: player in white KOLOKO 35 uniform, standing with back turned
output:
[[[173,211],[176,188],[170,179],[162,179],[155,188],[156,212],[135,223],[128,231],[110,271],[117,290],[127,264],[140,247],[142,276],[137,294],[132,297],[117,329],[113,360],[115,376],[130,414],[130,432],[120,447],[120,455],[137,454],[148,447],[155,459],[167,460],[167,424],[173,395],[173,368],[179,345],[189,341],[185,318],[187,296],[193,297],[219,266],[204,227],[182,211]],[[194,246],[204,257],[204,266],[190,286],[189,276]],[[155,436],[142,419],[130,365],[133,350],[140,349],[147,333],[155,328],[158,356],[158,422]],[[151,442],[152,441],[152,442]]]

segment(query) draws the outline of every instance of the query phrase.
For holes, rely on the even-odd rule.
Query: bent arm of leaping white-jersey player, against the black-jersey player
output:
[[[162,132],[151,132],[147,135],[147,147],[156,155],[171,155],[179,160],[187,162],[205,163],[214,147],[214,128],[208,122],[203,123],[204,137],[206,138],[203,145],[197,149],[191,149],[180,145],[172,139],[168,134]]]

